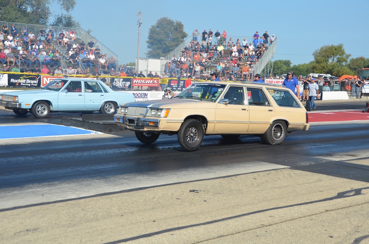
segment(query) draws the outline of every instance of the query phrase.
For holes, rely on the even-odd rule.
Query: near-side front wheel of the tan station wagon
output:
[[[204,127],[197,119],[184,121],[178,130],[178,142],[187,151],[198,149],[204,139]]]

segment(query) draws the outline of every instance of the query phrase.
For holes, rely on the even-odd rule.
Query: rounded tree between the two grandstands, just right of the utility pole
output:
[[[156,21],[149,29],[147,38],[147,57],[165,57],[174,50],[188,35],[183,31],[183,24],[180,21],[173,21],[163,17]]]

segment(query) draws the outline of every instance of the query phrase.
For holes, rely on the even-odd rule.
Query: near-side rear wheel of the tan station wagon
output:
[[[260,136],[261,141],[268,145],[279,145],[286,138],[286,123],[284,121],[274,121],[266,130],[266,132]]]

